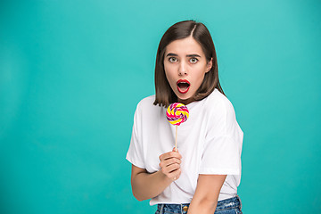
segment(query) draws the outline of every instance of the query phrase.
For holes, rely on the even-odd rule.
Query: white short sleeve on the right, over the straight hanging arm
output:
[[[241,175],[243,131],[228,100],[210,112],[199,174]]]

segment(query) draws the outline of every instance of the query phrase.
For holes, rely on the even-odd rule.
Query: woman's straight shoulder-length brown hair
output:
[[[177,95],[173,92],[169,86],[169,81],[166,78],[164,70],[164,54],[166,46],[169,43],[182,39],[185,37],[193,37],[201,46],[205,53],[207,62],[213,59],[213,65],[209,72],[205,74],[202,81],[202,85],[196,91],[193,96],[193,101],[200,101],[210,95],[215,88],[223,95],[223,89],[218,81],[218,61],[215,52],[215,47],[212,38],[210,37],[210,31],[201,22],[196,21],[180,21],[172,25],[161,37],[161,42],[157,50],[156,65],[155,65],[155,90],[156,97],[154,105],[159,104],[168,107],[170,103],[177,102]]]

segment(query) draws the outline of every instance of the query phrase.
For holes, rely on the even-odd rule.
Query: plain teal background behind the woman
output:
[[[153,213],[125,160],[162,34],[210,29],[243,213],[321,212],[320,1],[1,1],[0,213]]]

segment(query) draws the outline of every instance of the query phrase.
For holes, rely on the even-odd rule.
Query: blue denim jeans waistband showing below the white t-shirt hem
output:
[[[169,212],[185,214],[187,213],[188,207],[189,207],[189,203],[178,203],[178,204],[161,203],[157,205],[157,210],[159,211],[160,214],[169,213]],[[216,211],[228,210],[228,209],[242,210],[242,202],[238,195],[236,195],[233,198],[218,201]]]

